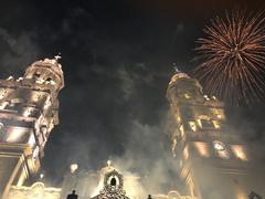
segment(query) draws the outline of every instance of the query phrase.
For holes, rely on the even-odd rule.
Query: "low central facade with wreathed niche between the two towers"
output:
[[[138,199],[146,196],[141,189],[139,177],[131,174],[121,175],[115,168],[110,160],[98,171],[72,170],[65,174],[62,184],[61,199],[66,198],[71,190],[76,190],[78,198],[105,198],[106,195],[112,195],[117,198]],[[115,179],[115,185],[110,185],[112,179]],[[113,180],[114,181],[114,180]]]

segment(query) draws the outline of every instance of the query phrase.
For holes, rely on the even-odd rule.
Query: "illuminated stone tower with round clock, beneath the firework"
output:
[[[167,98],[176,121],[172,153],[192,198],[247,199],[252,190],[265,196],[262,167],[229,128],[222,102],[204,95],[199,82],[181,72],[172,76]]]

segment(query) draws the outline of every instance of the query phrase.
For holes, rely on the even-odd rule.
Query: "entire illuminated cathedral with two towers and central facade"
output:
[[[57,56],[34,62],[23,77],[0,80],[0,198],[64,199],[73,189],[81,199],[142,198],[139,177],[123,175],[110,161],[96,172],[71,165],[61,188],[40,181],[41,158],[59,124],[57,96],[63,87]],[[174,123],[169,135],[172,159],[187,191],[149,197],[247,199],[253,191],[265,197],[265,167],[257,167],[262,163],[254,159],[255,148],[227,125],[224,104],[204,95],[197,80],[179,71],[169,82],[167,98]]]

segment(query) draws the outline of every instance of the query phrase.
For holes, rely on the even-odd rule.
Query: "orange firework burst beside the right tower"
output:
[[[210,94],[232,103],[264,96],[265,18],[263,12],[232,12],[204,28],[195,50],[202,63],[195,75]]]

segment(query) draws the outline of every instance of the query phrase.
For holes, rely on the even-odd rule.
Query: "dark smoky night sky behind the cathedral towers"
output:
[[[145,151],[140,158],[159,153],[172,63],[192,74],[203,27],[232,8],[265,7],[263,0],[1,1],[1,78],[62,53],[65,87],[43,159],[47,178],[59,182],[71,163],[98,169],[128,148]],[[227,116],[248,140],[265,142],[263,102],[229,107]]]

